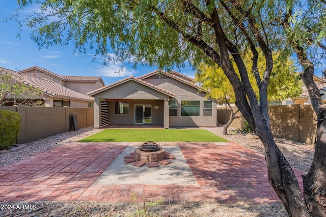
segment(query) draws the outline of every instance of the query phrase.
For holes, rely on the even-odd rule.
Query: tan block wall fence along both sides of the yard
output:
[[[236,109],[236,108],[234,108]],[[94,108],[0,106],[21,115],[17,143],[26,143],[48,136],[72,131],[71,115],[77,115],[79,128],[93,126]],[[269,106],[270,127],[273,135],[295,142],[313,145],[316,134],[316,116],[311,105]],[[228,107],[218,107],[218,123],[224,125],[231,115]],[[244,118],[237,118],[231,127],[242,129]]]

